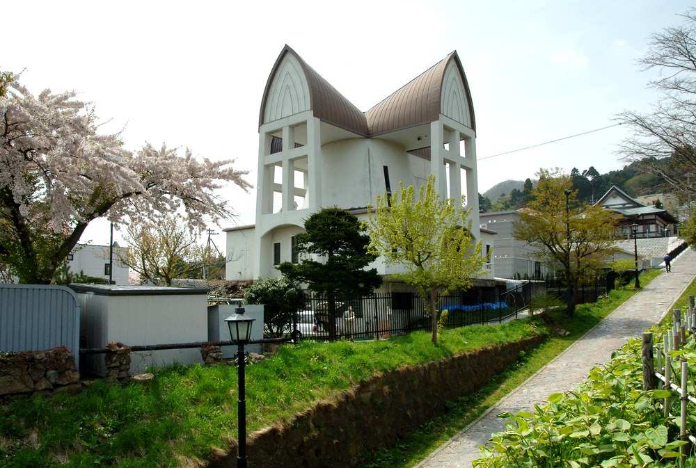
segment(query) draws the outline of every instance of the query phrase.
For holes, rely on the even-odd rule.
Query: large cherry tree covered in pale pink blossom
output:
[[[180,212],[200,231],[233,216],[216,190],[251,188],[233,159],[198,161],[164,144],[130,152],[118,134],[97,132],[93,106],[75,92],[34,96],[0,76],[0,263],[20,282],[49,283],[97,218],[125,225]]]

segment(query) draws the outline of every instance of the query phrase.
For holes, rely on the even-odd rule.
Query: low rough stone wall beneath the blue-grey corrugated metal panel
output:
[[[65,346],[0,353],[0,398],[15,394],[79,392],[75,357]]]

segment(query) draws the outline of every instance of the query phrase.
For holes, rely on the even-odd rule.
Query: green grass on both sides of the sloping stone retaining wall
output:
[[[645,284],[657,273],[641,278]],[[598,305],[580,305],[573,318],[530,320],[444,330],[438,346],[429,332],[387,341],[303,341],[247,367],[248,430],[290,421],[316,401],[332,398],[376,373],[504,344],[539,332],[553,334],[537,350],[476,394],[453,402],[447,417],[424,426],[368,467],[410,467],[456,434],[599,323],[633,289],[612,291]],[[20,397],[0,411],[0,466],[175,467],[206,460],[237,437],[237,369],[170,366],[151,369],[148,385],[110,385],[95,380],[78,395]]]

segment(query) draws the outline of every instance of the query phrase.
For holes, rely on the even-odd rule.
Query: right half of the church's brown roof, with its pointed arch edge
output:
[[[453,51],[428,70],[417,76],[365,114],[372,135],[379,135],[395,129],[413,127],[440,118],[443,107],[445,72],[452,63],[464,85],[466,104],[469,109],[470,127],[476,130],[473,102],[464,68],[461,67],[457,52]],[[462,122],[464,123],[464,122]]]

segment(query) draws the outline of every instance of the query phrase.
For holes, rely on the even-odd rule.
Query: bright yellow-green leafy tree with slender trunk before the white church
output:
[[[390,199],[377,196],[377,204],[367,223],[370,252],[381,255],[388,264],[400,265],[404,273],[396,280],[411,284],[429,309],[432,342],[437,344],[437,297],[448,291],[466,290],[472,279],[482,274],[486,258],[480,241],[473,243],[470,211],[459,200],[440,200],[435,177],[418,191],[413,186],[400,190]]]

